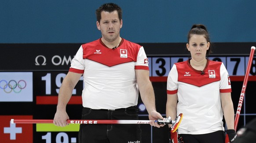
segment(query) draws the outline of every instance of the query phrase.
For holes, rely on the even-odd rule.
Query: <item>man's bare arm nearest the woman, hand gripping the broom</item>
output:
[[[155,106],[155,94],[153,86],[149,79],[149,70],[135,70],[137,84],[139,87],[139,93],[143,104],[146,106],[146,110],[149,114],[150,120],[164,119],[160,113],[156,111]],[[158,125],[157,122],[151,122],[151,126],[164,126]]]

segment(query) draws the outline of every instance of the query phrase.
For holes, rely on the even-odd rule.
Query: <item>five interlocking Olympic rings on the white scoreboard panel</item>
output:
[[[26,86],[27,83],[25,80],[19,80],[18,82],[16,80],[10,80],[9,82],[0,80],[0,88],[3,89],[5,93],[11,93],[11,91],[20,93]]]

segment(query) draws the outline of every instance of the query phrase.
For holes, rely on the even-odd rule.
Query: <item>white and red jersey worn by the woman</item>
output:
[[[183,113],[179,134],[205,134],[223,128],[220,93],[231,92],[223,63],[207,60],[204,71],[189,60],[175,63],[168,75],[167,94],[178,95],[177,115]]]

